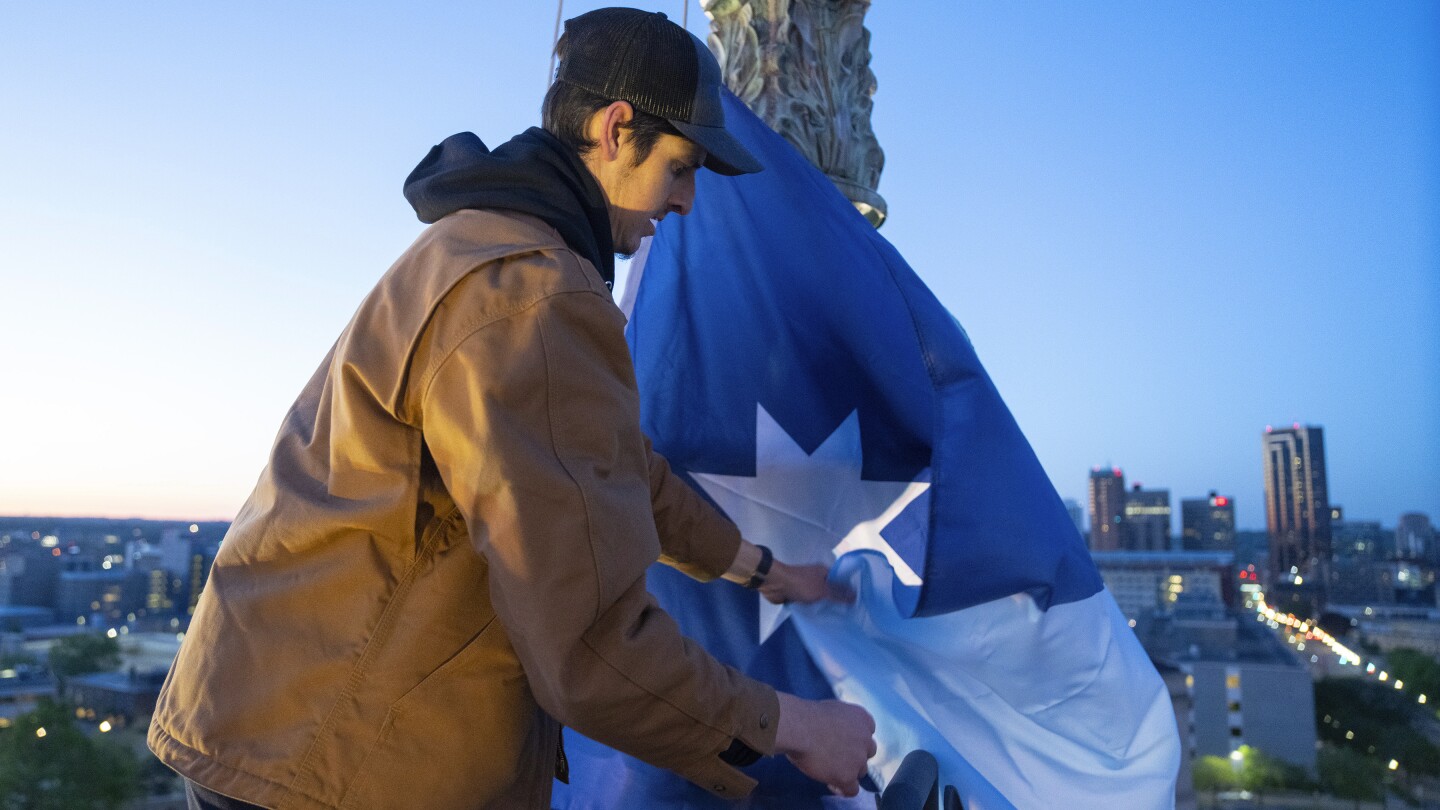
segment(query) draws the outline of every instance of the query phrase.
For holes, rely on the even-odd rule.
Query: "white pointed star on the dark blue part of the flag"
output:
[[[930,489],[927,480],[865,481],[860,477],[860,414],[851,411],[815,453],[806,454],[756,405],[755,476],[691,473],[750,542],[791,565],[831,565],[851,551],[883,553],[906,585],[920,585],[910,564],[880,535]],[[929,470],[920,479],[927,479]],[[788,605],[760,600],[760,641],[789,615]]]

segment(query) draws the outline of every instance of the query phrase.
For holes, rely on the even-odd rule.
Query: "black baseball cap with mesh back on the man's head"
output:
[[[749,174],[760,161],[724,128],[720,63],[700,37],[660,12],[598,9],[564,23],[556,75],[674,124],[706,150],[706,169]]]

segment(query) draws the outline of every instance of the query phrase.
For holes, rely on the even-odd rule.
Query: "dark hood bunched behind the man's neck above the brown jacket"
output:
[[[405,199],[425,223],[467,208],[537,216],[615,284],[605,195],[580,157],[539,127],[494,151],[474,133],[445,138],[405,179]]]

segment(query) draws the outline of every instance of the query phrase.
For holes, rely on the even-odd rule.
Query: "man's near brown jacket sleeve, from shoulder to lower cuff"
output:
[[[681,636],[645,591],[661,551],[657,486],[613,304],[557,293],[478,327],[444,356],[420,404],[540,706],[713,793],[749,793],[755,781],[720,754],[734,741],[772,752],[779,703]],[[696,509],[674,486],[661,476],[661,502]]]

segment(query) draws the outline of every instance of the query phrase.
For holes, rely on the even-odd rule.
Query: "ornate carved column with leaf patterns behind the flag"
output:
[[[876,228],[886,156],[870,128],[870,0],[700,0],[730,89]]]

